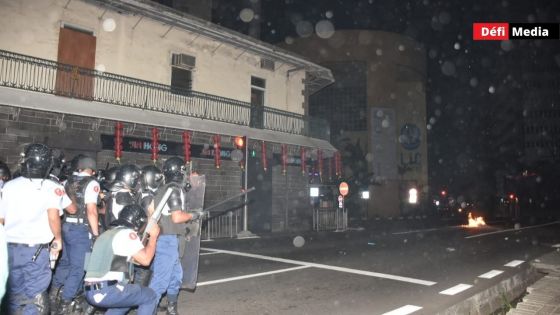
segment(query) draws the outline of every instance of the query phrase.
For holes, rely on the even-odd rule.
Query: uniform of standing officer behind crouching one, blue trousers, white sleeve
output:
[[[84,277],[84,260],[91,252],[92,234],[87,217],[87,204],[97,205],[99,183],[87,172],[73,175],[66,183],[66,192],[76,202],[77,212],[66,214],[62,225],[62,258],[56,268],[53,288],[62,290],[63,304],[69,304],[78,294]]]

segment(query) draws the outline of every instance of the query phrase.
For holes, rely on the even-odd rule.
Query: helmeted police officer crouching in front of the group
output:
[[[84,290],[87,301],[106,308],[105,314],[125,314],[138,306],[138,315],[155,314],[158,296],[139,284],[128,283],[128,263],[148,266],[154,257],[159,227],[154,224],[148,231],[146,247],[138,234],[142,233],[147,217],[141,206],[125,206],[113,222],[112,228],[97,239],[86,268]]]

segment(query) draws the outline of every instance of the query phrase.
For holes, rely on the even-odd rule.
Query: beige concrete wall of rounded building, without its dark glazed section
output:
[[[371,200],[368,202],[369,215],[399,215],[403,191],[412,185],[428,195],[428,156],[426,130],[426,54],[422,45],[399,34],[367,31],[337,30],[328,39],[312,36],[300,38],[283,48],[308,57],[313,62],[325,64],[336,61],[367,62],[367,104],[368,130],[344,132],[344,136],[356,143],[360,141],[369,153],[369,170],[376,171],[375,165],[390,163],[392,169],[406,170],[390,172],[391,176],[381,178],[380,186],[370,187]],[[336,77],[335,77],[336,79]],[[321,93],[321,92],[319,92]],[[320,104],[318,104],[320,106]],[[389,108],[394,111],[395,139],[385,144],[381,150],[396,153],[396,159],[380,160],[384,155],[376,154],[371,140],[373,108]],[[417,148],[405,148],[401,129],[405,124],[413,124],[420,130],[420,144]],[[333,141],[335,139],[333,138]],[[335,143],[335,145],[337,145]],[[343,149],[340,147],[339,149]],[[377,148],[379,149],[379,148]],[[391,153],[391,155],[395,155]],[[344,152],[342,153],[344,155]],[[377,172],[379,173],[379,172]]]

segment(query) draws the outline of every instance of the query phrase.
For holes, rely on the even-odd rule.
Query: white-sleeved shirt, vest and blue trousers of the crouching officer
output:
[[[130,258],[144,246],[136,232],[116,227],[104,232],[95,242],[84,279],[87,301],[107,308],[105,314],[125,314],[138,306],[138,315],[152,315],[157,306],[154,291],[128,281]]]

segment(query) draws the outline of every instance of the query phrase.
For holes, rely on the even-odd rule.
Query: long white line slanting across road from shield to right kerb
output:
[[[372,272],[372,271],[366,271],[366,270],[359,270],[359,269],[351,269],[351,268],[345,268],[345,267],[337,267],[337,266],[316,264],[316,263],[310,263],[310,262],[305,262],[305,261],[284,259],[284,258],[257,255],[257,254],[234,252],[234,251],[230,251],[230,250],[207,248],[207,247],[201,248],[201,249],[206,250],[206,251],[211,251],[211,252],[221,252],[221,253],[236,255],[236,256],[243,256],[243,257],[249,257],[249,258],[255,258],[255,259],[264,259],[264,260],[276,261],[276,262],[293,264],[293,265],[315,267],[315,268],[320,268],[320,269],[327,269],[327,270],[334,270],[334,271],[340,271],[340,272],[346,272],[346,273],[353,273],[353,274],[369,276],[369,277],[376,277],[376,278],[383,278],[383,279],[391,279],[391,280],[421,284],[421,285],[426,285],[426,286],[431,286],[431,285],[434,285],[434,284],[437,283],[437,282],[433,282],[433,281],[427,281],[427,280],[415,279],[415,278],[409,278],[409,277],[401,277],[401,276],[395,276],[395,275],[379,273],[379,272]]]

